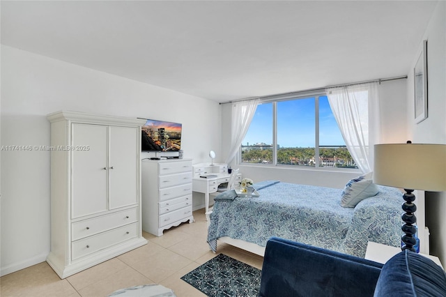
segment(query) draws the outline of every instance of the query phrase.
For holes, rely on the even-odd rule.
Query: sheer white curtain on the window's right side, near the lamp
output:
[[[362,173],[373,172],[374,144],[380,140],[378,82],[326,90],[348,151]]]

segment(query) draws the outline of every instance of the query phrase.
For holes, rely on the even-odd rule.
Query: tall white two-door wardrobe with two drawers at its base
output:
[[[49,114],[51,252],[61,278],[147,243],[141,232],[141,120]]]

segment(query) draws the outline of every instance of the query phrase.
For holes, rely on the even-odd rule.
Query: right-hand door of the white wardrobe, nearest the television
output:
[[[110,126],[110,209],[130,206],[139,200],[138,150],[140,132],[133,127]]]

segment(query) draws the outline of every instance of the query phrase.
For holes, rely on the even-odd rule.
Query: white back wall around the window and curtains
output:
[[[380,92],[381,123],[383,143],[406,142],[406,79],[382,82],[378,86]],[[231,131],[231,104],[222,105],[222,148],[229,151]],[[321,185],[330,188],[343,188],[348,180],[357,176],[359,171],[346,170],[334,172],[329,169],[302,169],[290,167],[274,167],[268,165],[235,165],[243,176],[254,181],[279,180],[288,183],[305,185]],[[233,166],[233,168],[235,168]]]

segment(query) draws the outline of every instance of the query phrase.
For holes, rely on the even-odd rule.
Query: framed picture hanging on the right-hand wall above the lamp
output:
[[[423,40],[420,56],[413,69],[415,123],[427,119],[427,40]]]

